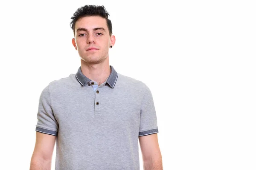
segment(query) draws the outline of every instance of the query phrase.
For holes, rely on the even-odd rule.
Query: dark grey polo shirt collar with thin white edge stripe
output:
[[[112,65],[110,65],[111,68],[111,74],[109,75],[108,79],[106,80],[106,82],[108,83],[108,85],[110,85],[111,88],[114,88],[116,85],[116,80],[118,77],[118,73],[115,71],[115,69],[113,68]],[[84,76],[84,74],[81,71],[81,66],[79,67],[77,73],[76,73],[76,79],[78,80],[78,82],[84,86],[86,85],[88,82],[91,81],[91,79],[89,79],[88,77]]]

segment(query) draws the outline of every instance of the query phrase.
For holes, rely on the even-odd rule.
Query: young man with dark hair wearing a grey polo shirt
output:
[[[30,170],[162,170],[158,126],[145,83],[109,65],[115,44],[104,6],[83,6],[71,17],[76,74],[50,82],[41,93]]]

